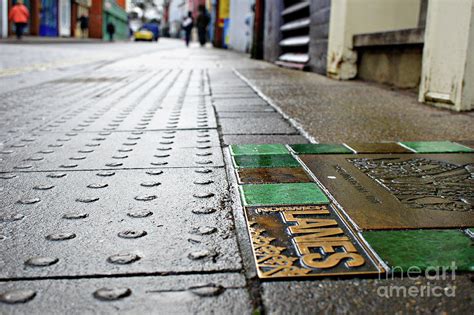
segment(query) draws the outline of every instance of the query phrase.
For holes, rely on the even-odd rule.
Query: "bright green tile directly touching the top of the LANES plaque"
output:
[[[240,192],[245,206],[329,203],[315,183],[242,185]]]

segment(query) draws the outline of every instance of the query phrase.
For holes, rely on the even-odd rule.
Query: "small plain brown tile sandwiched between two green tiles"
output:
[[[239,184],[281,184],[311,182],[306,172],[297,167],[242,168],[237,170]]]

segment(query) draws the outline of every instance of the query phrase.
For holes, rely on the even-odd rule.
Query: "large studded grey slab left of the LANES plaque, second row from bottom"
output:
[[[2,279],[241,268],[223,169],[4,173],[0,180]]]

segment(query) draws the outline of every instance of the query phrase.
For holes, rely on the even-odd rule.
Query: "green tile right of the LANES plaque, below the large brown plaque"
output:
[[[391,268],[449,267],[474,271],[474,247],[460,230],[367,231],[362,235]]]

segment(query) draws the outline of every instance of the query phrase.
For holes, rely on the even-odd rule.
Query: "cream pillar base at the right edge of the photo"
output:
[[[430,1],[419,99],[474,108],[474,1]]]

